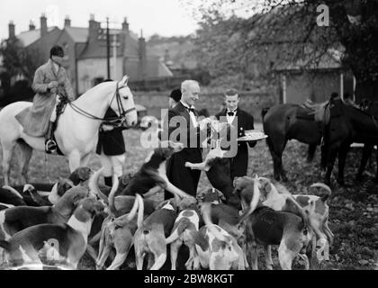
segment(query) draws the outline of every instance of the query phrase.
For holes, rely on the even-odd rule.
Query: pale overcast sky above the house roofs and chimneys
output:
[[[29,30],[30,21],[39,29],[42,13],[47,15],[49,26],[59,28],[66,15],[75,27],[87,27],[90,14],[99,22],[109,17],[119,28],[127,17],[130,30],[138,34],[143,30],[146,38],[155,33],[166,37],[188,35],[198,27],[180,0],[1,0],[0,39],[8,37],[10,21],[16,25],[16,34]]]

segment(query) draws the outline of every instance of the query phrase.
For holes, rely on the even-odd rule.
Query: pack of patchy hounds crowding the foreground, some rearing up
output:
[[[112,187],[99,184],[102,169],[89,167],[53,185],[4,186],[0,268],[77,269],[87,253],[96,269],[131,263],[131,269],[175,270],[183,260],[188,270],[246,270],[258,268],[258,246],[265,249],[266,269],[274,268],[272,246],[278,247],[282,269],[292,269],[296,258],[304,269],[329,260],[334,235],[328,225],[327,185],[313,184],[317,195],[307,195],[289,193],[257,175],[230,179],[238,209],[225,202],[224,185],[194,198],[171,184],[166,160],[183,146],[161,144],[135,175],[114,176]],[[217,187],[228,177],[222,173],[229,173],[221,155],[211,152],[202,164],[185,166],[202,169]],[[209,173],[214,166],[221,172]],[[157,201],[156,193],[164,190],[172,199]],[[182,246],[187,247],[185,256],[179,252]]]

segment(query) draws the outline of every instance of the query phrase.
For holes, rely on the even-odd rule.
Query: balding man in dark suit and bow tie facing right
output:
[[[166,175],[169,181],[185,193],[195,197],[201,171],[185,167],[185,162],[201,163],[201,134],[206,133],[206,123],[197,122],[198,112],[193,104],[199,99],[200,85],[193,80],[185,80],[181,86],[182,98],[170,109],[164,121],[164,137],[184,144],[184,149],[169,158]],[[178,125],[177,125],[177,122]],[[176,134],[180,132],[178,137]],[[202,134],[203,136],[203,134]],[[166,199],[172,194],[166,193]]]

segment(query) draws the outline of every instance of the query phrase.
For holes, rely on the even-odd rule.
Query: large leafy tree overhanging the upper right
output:
[[[267,75],[284,63],[308,69],[331,55],[356,76],[357,99],[378,96],[377,0],[198,2],[196,52],[211,76],[252,78],[251,62]]]

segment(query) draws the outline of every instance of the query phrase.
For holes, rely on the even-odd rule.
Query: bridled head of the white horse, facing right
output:
[[[110,107],[118,116],[126,121],[129,127],[138,123],[138,114],[135,109],[134,96],[128,86],[129,76],[123,76],[121,82],[117,83],[117,88]]]

